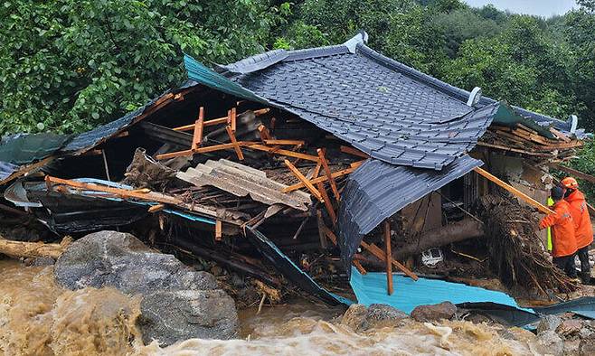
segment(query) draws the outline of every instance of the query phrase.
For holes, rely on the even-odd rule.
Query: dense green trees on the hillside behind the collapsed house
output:
[[[0,134],[78,132],[206,63],[345,42],[464,89],[595,129],[595,5],[542,19],[458,0],[56,0],[0,5]]]

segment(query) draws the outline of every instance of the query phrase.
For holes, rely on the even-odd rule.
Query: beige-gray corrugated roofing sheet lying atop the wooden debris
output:
[[[267,178],[267,173],[247,165],[236,164],[226,159],[208,160],[196,168],[179,172],[177,178],[196,186],[212,185],[236,196],[247,196],[267,205],[284,204],[298,211],[307,211],[312,202],[307,192],[294,191],[285,193],[287,185]]]

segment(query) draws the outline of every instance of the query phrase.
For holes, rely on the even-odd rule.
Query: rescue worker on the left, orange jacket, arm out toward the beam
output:
[[[561,187],[552,188],[553,214],[547,215],[539,223],[539,229],[552,227],[552,262],[572,279],[577,277],[574,267],[576,239],[574,238],[574,222],[569,204],[564,201]]]

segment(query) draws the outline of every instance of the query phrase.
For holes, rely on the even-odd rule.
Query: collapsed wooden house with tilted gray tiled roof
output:
[[[331,304],[349,303],[341,286],[364,288],[370,268],[391,295],[392,268],[417,280],[447,254],[488,258],[452,244],[486,235],[477,200],[501,188],[549,211],[549,167],[565,169],[586,138],[576,117],[452,87],[366,42],[358,33],[216,70],[186,56],[188,82],[125,117],[4,140],[5,200],[60,236],[135,226],[271,286],[276,267]]]

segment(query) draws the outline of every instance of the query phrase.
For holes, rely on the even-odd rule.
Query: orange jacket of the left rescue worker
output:
[[[543,218],[539,223],[539,228],[552,228],[552,256],[554,258],[571,256],[578,248],[574,237],[574,222],[570,204],[560,200],[553,204],[552,208],[554,213]]]

